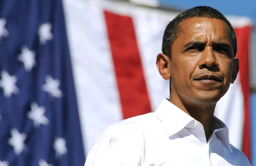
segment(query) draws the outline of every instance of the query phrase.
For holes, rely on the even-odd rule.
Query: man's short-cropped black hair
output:
[[[233,27],[231,26],[227,18],[223,14],[221,14],[221,12],[209,6],[197,6],[197,7],[188,9],[186,11],[183,11],[182,13],[177,15],[172,21],[170,21],[170,23],[166,26],[166,29],[163,34],[163,44],[162,44],[163,54],[166,54],[169,58],[171,57],[172,44],[177,39],[177,36],[179,35],[180,23],[183,20],[186,20],[188,18],[193,18],[193,17],[216,18],[219,20],[223,20],[225,23],[227,23],[227,26],[230,30],[229,35],[234,48],[234,57],[236,57],[237,42],[236,42],[235,30],[233,29]]]

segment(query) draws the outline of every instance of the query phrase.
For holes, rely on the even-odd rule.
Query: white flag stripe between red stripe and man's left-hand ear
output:
[[[169,80],[164,80],[160,76],[155,63],[157,54],[162,52],[161,45],[166,22],[160,18],[159,14],[148,16],[148,13],[135,15],[133,21],[151,109],[155,111],[163,97],[170,97]]]

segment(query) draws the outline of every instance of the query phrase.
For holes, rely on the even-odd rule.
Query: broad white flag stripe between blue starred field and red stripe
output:
[[[110,124],[122,120],[104,13],[84,0],[64,0],[86,155]]]

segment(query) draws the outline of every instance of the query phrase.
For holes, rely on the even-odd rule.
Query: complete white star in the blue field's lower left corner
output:
[[[11,135],[9,145],[13,146],[16,155],[20,155],[25,147],[24,141],[26,140],[26,135],[20,133],[17,129],[12,129]]]

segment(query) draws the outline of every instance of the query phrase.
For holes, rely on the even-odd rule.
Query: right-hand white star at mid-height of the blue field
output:
[[[42,89],[53,97],[60,98],[62,96],[62,92],[58,87],[60,85],[60,81],[58,79],[52,79],[49,75],[45,77],[45,81],[46,83],[43,85]]]

